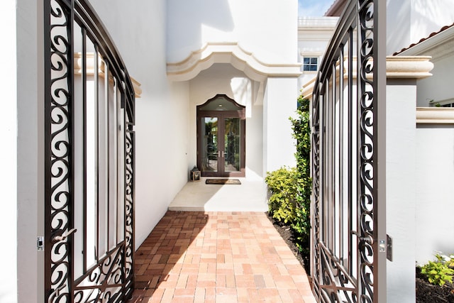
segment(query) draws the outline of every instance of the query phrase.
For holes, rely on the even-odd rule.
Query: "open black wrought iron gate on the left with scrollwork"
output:
[[[134,98],[84,0],[46,0],[45,301],[133,291]]]

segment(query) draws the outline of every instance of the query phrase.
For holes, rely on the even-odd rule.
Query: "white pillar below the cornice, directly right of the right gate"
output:
[[[387,82],[387,302],[415,301],[416,80]]]

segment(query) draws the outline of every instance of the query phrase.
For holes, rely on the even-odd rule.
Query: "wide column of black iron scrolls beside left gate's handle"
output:
[[[50,6],[50,226],[52,231],[70,229],[70,176],[72,174],[70,117],[72,99],[72,51],[68,12],[59,1]],[[48,124],[48,125],[49,125]],[[50,281],[55,302],[70,302],[70,242],[48,243],[50,246]]]

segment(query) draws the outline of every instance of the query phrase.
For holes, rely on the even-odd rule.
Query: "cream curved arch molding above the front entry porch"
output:
[[[186,59],[167,63],[167,77],[172,81],[193,79],[214,63],[230,63],[250,79],[263,82],[267,77],[299,77],[301,63],[270,64],[257,59],[238,43],[206,43]]]

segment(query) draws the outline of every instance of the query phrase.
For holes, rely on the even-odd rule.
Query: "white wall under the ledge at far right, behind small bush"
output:
[[[416,128],[416,262],[454,253],[454,126]]]

